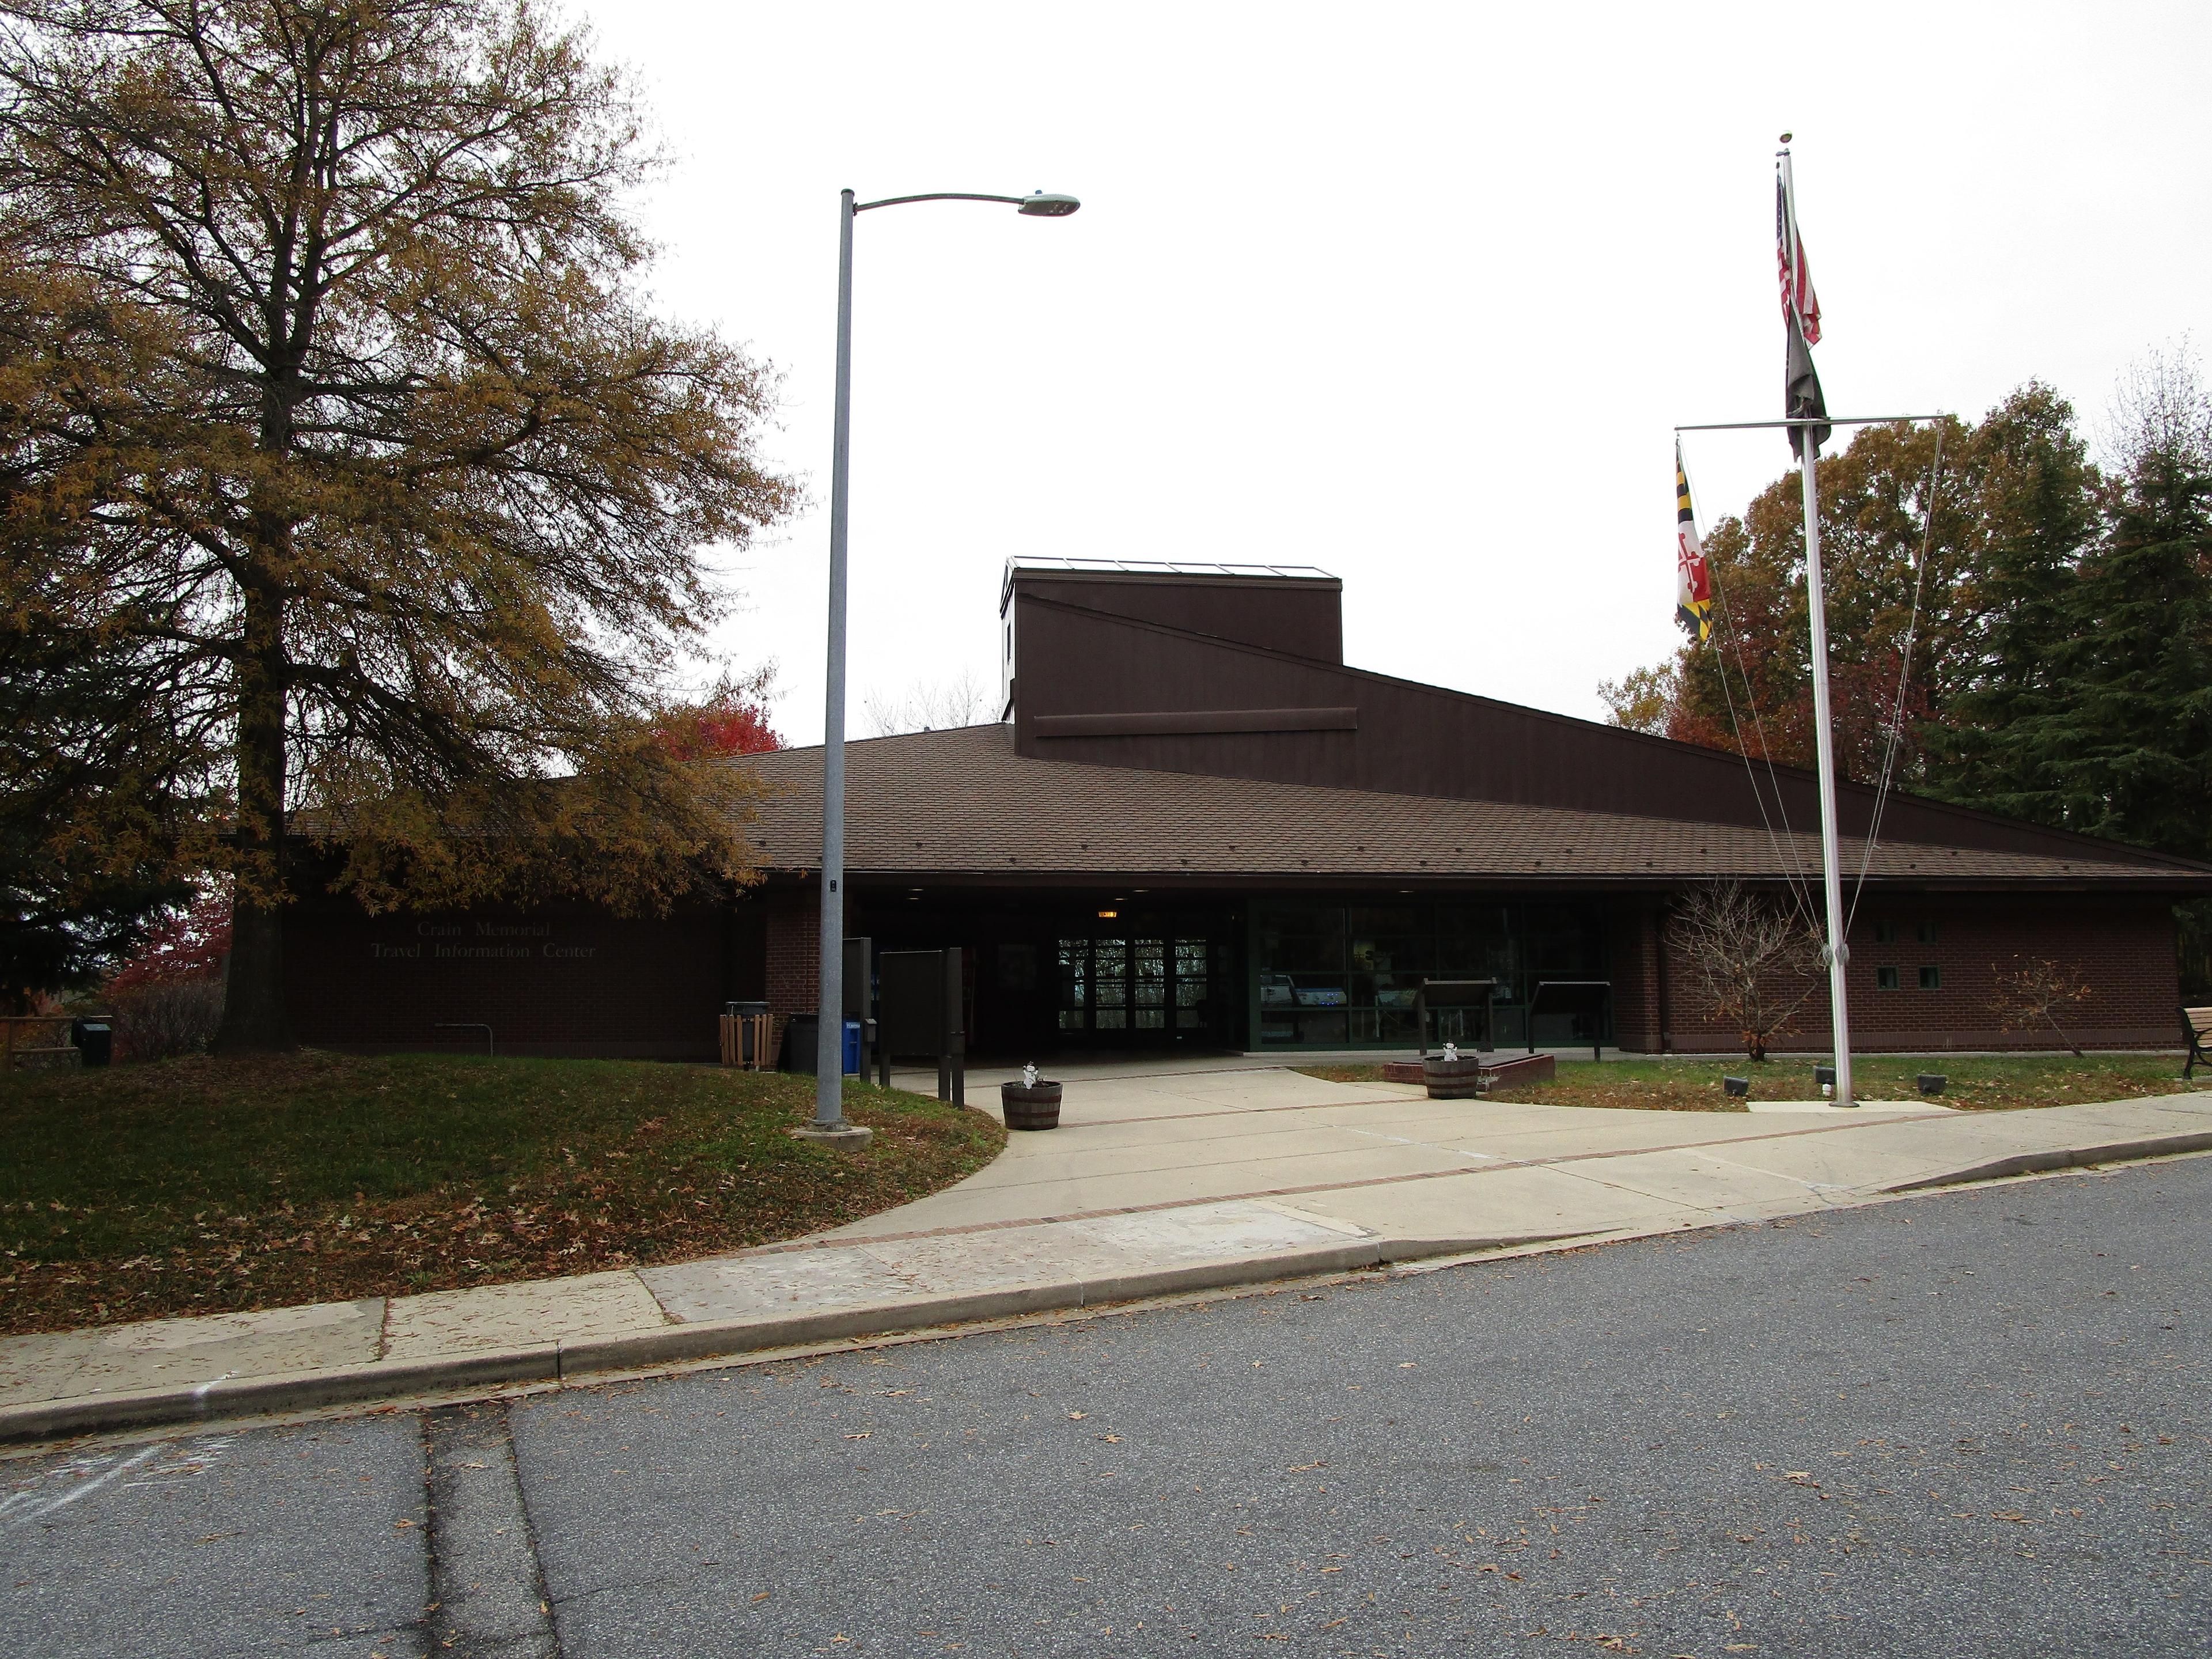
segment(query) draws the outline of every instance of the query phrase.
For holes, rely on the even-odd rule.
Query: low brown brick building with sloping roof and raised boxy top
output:
[[[971,1048],[1411,1046],[1425,978],[1493,980],[1500,1044],[1725,1051],[1666,947],[1688,885],[1818,885],[1814,781],[1343,664],[1318,571],[1037,562],[1002,595],[1004,719],[847,750],[845,931],[960,947]],[[294,907],[303,1042],[706,1057],[814,1006],[821,750],[759,757],[761,887],[661,920]],[[2179,898],[2212,867],[1845,785],[1865,860],[1854,1046],[2048,1046],[1995,975],[2077,969],[2077,1035],[2174,1042]],[[1814,993],[1781,1046],[1827,1042]]]

